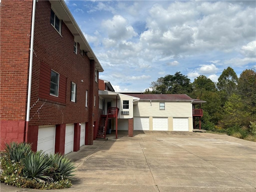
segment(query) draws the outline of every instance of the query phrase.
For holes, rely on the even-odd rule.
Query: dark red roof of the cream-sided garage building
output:
[[[125,94],[140,98],[140,100],[194,100],[186,94]]]

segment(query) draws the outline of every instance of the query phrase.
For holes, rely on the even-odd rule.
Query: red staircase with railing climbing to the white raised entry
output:
[[[97,130],[96,138],[105,139],[106,133],[108,129],[108,118],[117,118],[119,108],[117,107],[110,107],[108,108],[107,115],[100,116],[100,122]]]

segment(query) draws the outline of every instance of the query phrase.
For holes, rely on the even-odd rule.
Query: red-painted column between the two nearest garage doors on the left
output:
[[[55,131],[55,153],[64,154],[65,152],[66,124],[56,125]]]

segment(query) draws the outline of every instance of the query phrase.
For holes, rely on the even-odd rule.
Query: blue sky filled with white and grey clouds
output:
[[[65,0],[119,92],[144,92],[180,71],[216,82],[256,67],[256,1]]]

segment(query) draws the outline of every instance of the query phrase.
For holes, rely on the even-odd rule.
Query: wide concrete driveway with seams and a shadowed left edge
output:
[[[77,166],[67,192],[255,192],[256,143],[195,132],[108,135],[68,157]],[[1,184],[1,192],[30,191]],[[42,190],[32,190],[38,192]]]

